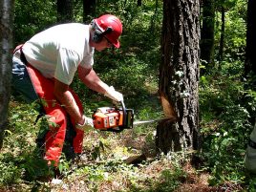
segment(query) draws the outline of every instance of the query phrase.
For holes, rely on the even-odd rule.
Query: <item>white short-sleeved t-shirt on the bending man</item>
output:
[[[69,23],[35,34],[22,51],[42,75],[70,85],[78,65],[92,68],[95,49],[89,45],[89,25]]]

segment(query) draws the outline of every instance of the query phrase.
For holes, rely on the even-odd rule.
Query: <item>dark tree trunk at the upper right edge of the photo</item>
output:
[[[256,90],[256,1],[248,0],[247,32],[245,50],[245,78],[249,78],[247,89]]]

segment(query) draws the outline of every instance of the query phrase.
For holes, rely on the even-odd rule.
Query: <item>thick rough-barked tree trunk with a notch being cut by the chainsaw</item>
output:
[[[156,145],[164,154],[199,148],[199,0],[164,0]]]

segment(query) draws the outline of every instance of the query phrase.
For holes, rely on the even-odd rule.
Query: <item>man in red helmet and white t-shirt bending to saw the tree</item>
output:
[[[35,34],[15,49],[13,87],[29,102],[39,99],[43,112],[49,117],[49,130],[44,134],[44,159],[49,164],[57,164],[68,129],[75,130],[70,141],[72,150],[80,154],[84,130],[93,127],[92,118],[84,116],[82,104],[70,88],[76,71],[88,88],[116,101],[123,100],[123,96],[100,80],[93,69],[95,50],[119,48],[121,32],[120,20],[105,14],[90,25],[54,26]]]

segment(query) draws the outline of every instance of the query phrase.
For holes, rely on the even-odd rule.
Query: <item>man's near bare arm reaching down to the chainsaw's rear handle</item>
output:
[[[54,96],[65,107],[68,114],[75,119],[75,123],[83,124],[83,113],[79,111],[79,108],[75,102],[74,96],[69,91],[69,85],[54,79]]]

